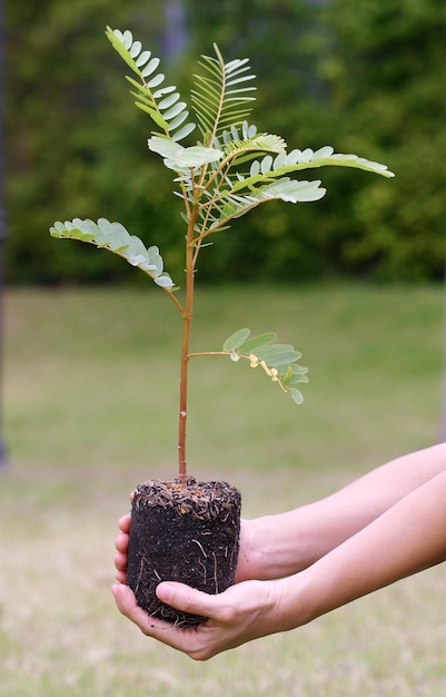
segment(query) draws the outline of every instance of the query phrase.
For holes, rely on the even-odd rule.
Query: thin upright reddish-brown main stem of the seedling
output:
[[[180,364],[180,394],[179,394],[179,421],[178,421],[178,477],[180,481],[187,478],[186,461],[186,425],[187,425],[187,397],[188,397],[188,369],[189,369],[189,345],[190,328],[194,312],[194,281],[196,254],[194,245],[194,227],[198,207],[195,206],[189,217],[186,238],[186,304],[182,313],[182,342],[181,342],[181,364]]]

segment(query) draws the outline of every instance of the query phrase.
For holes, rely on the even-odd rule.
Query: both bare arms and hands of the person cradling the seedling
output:
[[[145,634],[204,660],[307,624],[446,560],[445,500],[446,445],[442,445],[390,462],[318,503],[251,521],[242,527],[241,543],[250,558],[239,563],[238,580],[246,582],[216,596],[182,583],[158,586],[163,602],[209,618],[194,629],[148,621],[137,606],[123,578],[130,527],[125,517],[117,544],[121,576],[113,595],[120,611]],[[258,538],[259,532],[265,538]],[[299,568],[304,570],[296,573]],[[272,579],[274,573],[289,576],[247,580]]]

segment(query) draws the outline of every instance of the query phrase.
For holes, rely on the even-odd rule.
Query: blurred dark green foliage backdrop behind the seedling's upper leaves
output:
[[[289,148],[333,145],[384,161],[395,180],[317,170],[318,204],[271,204],[222,233],[200,278],[339,275],[436,279],[446,219],[446,6],[437,0],[40,0],[7,6],[8,277],[132,278],[120,259],[56,245],[75,215],[120,220],[159,244],[178,277],[182,223],[150,121],[128,95],[105,26],[129,28],[184,96],[200,53],[250,58],[252,122]],[[142,275],[141,275],[142,276]]]

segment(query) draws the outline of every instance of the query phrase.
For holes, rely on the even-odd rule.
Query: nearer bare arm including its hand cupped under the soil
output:
[[[217,596],[182,583],[157,588],[163,602],[208,617],[197,629],[150,619],[125,585],[121,612],[141,630],[207,659],[259,637],[295,629],[351,600],[446,559],[446,472],[418,487],[308,569],[276,581],[236,583]]]

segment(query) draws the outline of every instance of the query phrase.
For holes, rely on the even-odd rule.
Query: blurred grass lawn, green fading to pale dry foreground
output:
[[[310,382],[297,406],[241,362],[197,359],[190,471],[238,485],[251,517],[436,442],[443,300],[438,286],[200,289],[194,350],[276,331]],[[128,491],[176,474],[175,307],[156,288],[17,289],[4,330],[1,697],[445,694],[446,565],[207,664],[145,638],[109,586]]]

